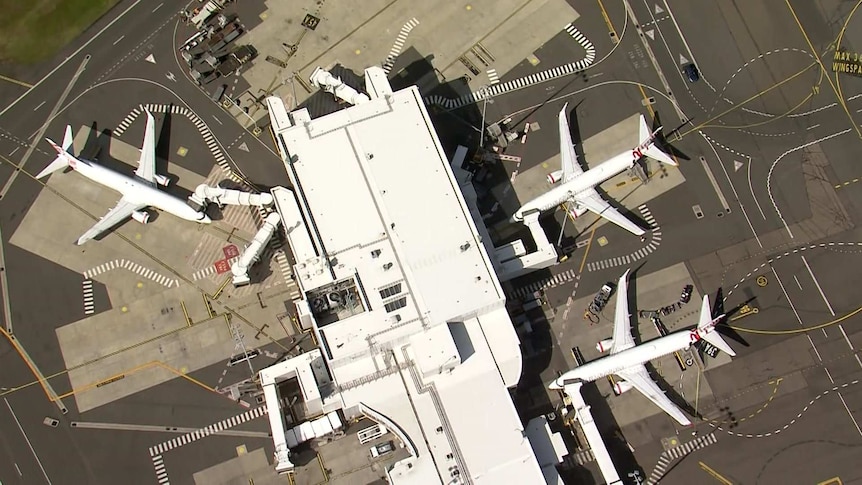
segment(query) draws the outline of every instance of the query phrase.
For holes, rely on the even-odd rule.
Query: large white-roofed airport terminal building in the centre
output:
[[[408,451],[390,483],[560,483],[559,435],[531,425],[544,432],[531,446],[509,395],[522,354],[459,168],[466,151],[450,161],[416,87],[393,92],[380,68],[365,80],[367,96],[328,76],[318,85],[353,106],[316,119],[267,99],[292,183],[272,195],[302,294],[297,323],[318,343],[260,372],[276,469],[293,469],[297,444],[366,417]],[[311,417],[302,424],[279,394],[291,379]]]

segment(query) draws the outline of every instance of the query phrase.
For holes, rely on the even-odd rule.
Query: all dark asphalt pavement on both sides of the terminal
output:
[[[675,131],[668,139],[683,154],[679,170],[686,182],[645,204],[662,238],[654,252],[632,264],[643,265],[641,272],[649,273],[685,262],[701,292],[714,295],[721,288],[727,308],[748,303],[758,309],[732,321],[748,347],[731,343],[738,349],[739,363],[705,374],[716,398],[701,403],[704,409],[724,409],[724,415],[708,416],[719,427],[728,412],[737,418],[756,417],[727,430],[710,422],[699,424],[699,432],[715,432],[717,442],[667,462],[665,483],[711,479],[701,463],[733,482],[858,479],[846,463],[862,440],[862,433],[856,432],[862,398],[856,384],[850,384],[862,370],[856,351],[862,334],[856,330],[858,317],[847,315],[858,305],[859,278],[852,268],[862,250],[857,244],[862,238],[853,229],[862,196],[856,163],[857,144],[862,143],[856,113],[862,109],[862,96],[857,97],[862,85],[857,78],[842,76],[836,81],[828,71],[822,72],[829,68],[834,50],[830,44],[850,12],[837,1],[627,3],[628,9],[624,1],[576,5],[581,17],[574,26],[597,52],[583,74],[534,83],[450,116],[472,121],[484,108],[487,121],[512,117],[519,124],[539,123],[540,130],[530,133],[525,144],[516,143],[507,152],[522,157],[520,165],[502,164],[509,176],[559,151],[555,119],[566,102],[577,107],[572,124],[581,139],[632,113],[658,113],[665,133]],[[130,118],[135,108],[147,103],[178,106],[188,112],[157,114],[160,156],[206,175],[220,154],[227,167],[254,185],[287,184],[266,131],[255,137],[210,99],[212,86],[202,90],[189,82],[187,68],[176,56],[178,43],[192,33],[178,22],[176,12],[184,6],[122,1],[53,61],[16,71],[19,79],[35,85],[26,94],[16,85],[0,89],[4,101],[0,156],[6,162],[0,164],[3,271],[15,335],[45,374],[63,370],[54,329],[84,315],[79,275],[8,244],[42,189],[27,172],[36,173],[52,158],[44,143],[34,140],[36,134],[59,137],[66,124],[95,123],[98,130],[113,135],[129,120],[127,128],[114,136],[137,145],[143,122]],[[239,13],[251,28],[263,9],[262,2],[251,2]],[[857,24],[856,17],[850,18],[849,30]],[[843,42],[851,51],[852,38]],[[534,55],[532,62],[524,60],[501,73],[500,81],[581,59],[584,49],[561,30]],[[688,62],[698,66],[700,81],[685,78],[682,67]],[[458,127],[463,130],[464,124]],[[217,140],[215,149],[204,141],[205,133]],[[24,159],[31,143],[35,147]],[[187,149],[185,156],[178,154],[181,148]],[[24,171],[14,171],[12,164],[22,160]],[[613,200],[613,190],[608,193]],[[626,205],[624,200],[615,202]],[[639,214],[635,207],[628,209]],[[546,224],[552,240],[559,234],[560,221],[557,217]],[[569,350],[555,347],[553,336],[561,331],[567,302],[592,293],[624,271],[590,270],[587,264],[631,254],[642,246],[612,225],[592,235],[578,234],[568,225],[566,236],[588,244],[568,261],[513,282],[517,289],[568,275],[562,284],[545,288],[554,317],[544,330],[547,338],[537,340],[545,348],[527,360],[533,374],[523,380],[533,386],[542,385],[542,372],[565,364],[561,353]],[[602,237],[610,243],[598,243]],[[97,285],[95,291],[103,294],[98,300],[107,301],[103,287]],[[580,321],[578,311],[573,315],[570,318]],[[138,482],[129,477],[153,483],[156,474],[147,449],[174,435],[78,430],[69,423],[86,419],[200,427],[244,411],[222,395],[174,379],[86,416],[79,416],[73,405],[69,414],[61,415],[45,399],[31,369],[5,343],[0,344],[0,366],[3,483],[113,483],[120,476],[130,483]],[[752,372],[751,366],[766,370]],[[223,365],[216,365],[194,376],[211,387],[241,377],[234,377],[236,369],[224,371]],[[769,382],[778,379],[786,382],[771,397]],[[741,394],[739,382],[758,391]],[[62,374],[51,383],[58,393],[69,391]],[[542,400],[532,404],[536,409],[548,405]],[[46,417],[60,424],[45,425]],[[664,429],[662,418],[639,426]],[[265,430],[262,421],[252,423]],[[239,437],[190,443],[165,455],[171,481],[191,483],[191,474],[202,464],[234,456],[240,444],[271,446],[267,439]],[[635,458],[647,475],[666,448],[657,441],[639,444]],[[806,463],[805,457],[816,458]]]

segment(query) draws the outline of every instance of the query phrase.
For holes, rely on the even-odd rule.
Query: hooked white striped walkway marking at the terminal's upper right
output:
[[[425,98],[425,104],[429,106],[440,106],[448,110],[458,109],[462,106],[473,104],[477,101],[482,101],[485,99],[493,98],[494,96],[499,96],[501,94],[517,91],[519,89],[524,89],[535,84],[561,78],[563,76],[568,76],[578,71],[583,71],[587,69],[596,59],[596,48],[593,46],[593,43],[590,42],[589,39],[586,38],[586,36],[581,34],[578,29],[572,26],[571,23],[567,24],[565,27],[563,27],[563,29],[568,32],[569,35],[574,37],[575,40],[581,45],[581,47],[584,48],[584,58],[580,61],[570,62],[568,64],[563,64],[562,66],[552,67],[550,69],[545,69],[544,71],[530,74],[529,76],[513,79],[511,81],[507,81],[500,84],[494,84],[493,86],[479,89],[478,91],[474,91],[469,94],[465,94],[460,98],[447,98],[439,94],[433,94]],[[619,43],[617,43],[617,46],[618,45]],[[614,49],[611,50],[611,53],[616,50],[617,46],[614,46]],[[605,58],[607,58],[607,56]]]

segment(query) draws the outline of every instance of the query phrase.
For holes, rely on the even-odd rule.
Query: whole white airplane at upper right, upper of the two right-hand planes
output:
[[[568,212],[573,218],[589,210],[636,236],[643,235],[645,231],[602,199],[599,193],[596,192],[595,187],[618,173],[632,168],[644,156],[668,165],[677,165],[671,157],[655,145],[655,135],[661,131],[661,127],[654,132],[650,132],[646,119],[641,115],[640,139],[643,140],[641,144],[630,152],[620,153],[610,160],[584,172],[577,162],[572,135],[569,132],[569,122],[566,119],[566,108],[568,105],[566,103],[563,106],[559,117],[560,158],[563,162],[563,168],[548,174],[548,181],[551,185],[557,182],[560,185],[521,206],[512,216],[512,222],[523,221],[524,215],[530,212],[543,212],[568,202]]]

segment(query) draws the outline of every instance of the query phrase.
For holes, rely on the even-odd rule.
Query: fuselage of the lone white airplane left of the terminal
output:
[[[123,175],[92,161],[74,159],[75,171],[105,187],[114,189],[130,202],[155,207],[188,221],[201,222],[206,215],[194,210],[180,198],[159,190],[135,177]]]

